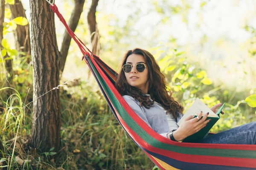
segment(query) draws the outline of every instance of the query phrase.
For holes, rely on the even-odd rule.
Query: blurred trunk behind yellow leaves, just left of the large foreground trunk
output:
[[[9,5],[11,12],[12,12],[12,18],[14,19],[16,17],[25,17],[25,10],[23,8],[23,5],[20,0],[15,0],[14,5]],[[26,26],[20,26],[17,25],[17,28],[14,32],[15,36],[15,45],[17,51],[26,52],[27,56],[31,54],[30,50],[30,37],[29,37],[29,25]],[[30,62],[30,58],[27,58],[27,62]]]

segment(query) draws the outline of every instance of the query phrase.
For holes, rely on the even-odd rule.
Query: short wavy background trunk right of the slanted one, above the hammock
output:
[[[96,23],[96,8],[98,6],[99,0],[92,0],[90,10],[87,15],[87,22],[89,24],[91,33],[91,43],[93,48],[93,54],[99,55],[100,44],[99,44],[99,30]]]

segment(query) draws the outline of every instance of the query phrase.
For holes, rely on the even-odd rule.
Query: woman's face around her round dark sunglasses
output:
[[[130,73],[125,73],[126,80],[129,85],[139,88],[143,94],[148,93],[148,67],[145,68],[143,72],[138,72],[136,66],[138,63],[143,63],[146,65],[145,59],[142,55],[131,54],[127,60],[126,64],[133,65]]]

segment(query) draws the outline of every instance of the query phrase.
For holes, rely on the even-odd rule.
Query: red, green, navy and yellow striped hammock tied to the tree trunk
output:
[[[117,73],[95,56],[54,11],[79,46],[117,121],[131,139],[162,170],[252,170],[256,169],[256,145],[197,144],[173,142],[152,130],[129,107],[116,90]]]

